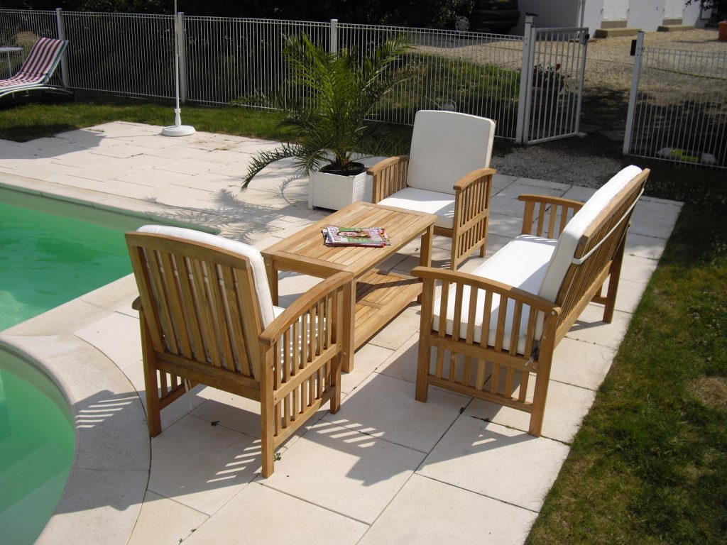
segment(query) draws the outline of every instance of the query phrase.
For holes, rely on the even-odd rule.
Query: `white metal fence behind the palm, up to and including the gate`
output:
[[[72,89],[132,97],[174,97],[174,17],[92,12],[0,10],[0,45],[38,36],[70,42],[62,70]],[[306,33],[330,52],[369,52],[405,35],[412,44],[399,69],[411,77],[377,112],[411,124],[421,109],[456,110],[497,121],[497,137],[528,143],[578,130],[584,29],[534,28],[503,36],[393,26],[187,17],[180,27],[180,98],[208,105],[262,107],[284,88],[286,36]],[[558,85],[538,86],[534,67],[555,70]],[[523,78],[523,74],[526,76]],[[540,92],[536,91],[540,89]],[[545,97],[545,98],[543,98]]]

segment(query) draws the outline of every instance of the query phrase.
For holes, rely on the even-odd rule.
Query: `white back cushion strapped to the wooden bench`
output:
[[[542,286],[538,293],[548,301],[555,302],[561,284],[566,278],[568,267],[571,266],[573,257],[576,253],[578,241],[585,233],[586,229],[593,223],[593,220],[601,214],[608,203],[621,191],[628,182],[635,176],[640,174],[641,169],[638,166],[627,166],[619,171],[614,177],[606,182],[601,189],[593,193],[593,196],[586,201],[582,209],[580,209],[574,217],[568,222],[563,233],[558,238],[558,246],[555,247],[553,259],[550,259],[550,265],[543,278]]]

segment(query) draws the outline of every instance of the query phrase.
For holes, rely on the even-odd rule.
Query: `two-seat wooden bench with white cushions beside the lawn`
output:
[[[521,195],[522,234],[473,273],[416,267],[424,280],[417,400],[433,385],[526,411],[529,433],[539,436],[558,342],[592,301],[604,304],[605,322],[613,318],[648,172],[623,169],[587,203]]]

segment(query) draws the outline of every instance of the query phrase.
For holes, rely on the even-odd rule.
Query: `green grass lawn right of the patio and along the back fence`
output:
[[[284,137],[275,116],[243,108],[184,107],[182,119],[202,131]],[[0,138],[115,120],[168,125],[172,107],[5,108]],[[727,176],[634,162],[653,169],[647,194],[683,201],[683,212],[529,544],[722,544],[727,536]]]

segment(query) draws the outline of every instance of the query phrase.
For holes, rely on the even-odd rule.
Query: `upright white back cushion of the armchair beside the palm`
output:
[[[419,110],[411,136],[411,187],[454,193],[452,186],[473,170],[490,166],[495,122],[468,113]]]

